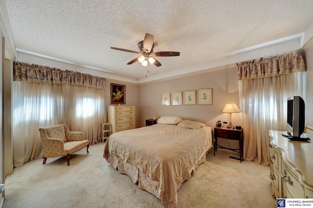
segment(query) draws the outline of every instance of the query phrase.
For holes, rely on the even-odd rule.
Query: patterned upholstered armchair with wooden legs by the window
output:
[[[39,132],[44,151],[43,164],[48,157],[67,156],[67,166],[69,166],[69,158],[73,152],[87,146],[87,153],[89,153],[89,140],[85,140],[84,133],[69,131],[65,124],[43,127]]]

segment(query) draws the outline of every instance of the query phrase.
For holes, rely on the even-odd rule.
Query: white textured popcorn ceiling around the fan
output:
[[[144,78],[146,69],[148,76],[205,70],[208,63],[234,51],[303,33],[313,22],[313,0],[5,0],[5,4],[18,49],[136,79]],[[180,56],[158,57],[162,66],[144,67],[139,62],[126,65],[137,54],[110,49],[138,51],[145,33],[154,35],[155,52],[179,51]]]

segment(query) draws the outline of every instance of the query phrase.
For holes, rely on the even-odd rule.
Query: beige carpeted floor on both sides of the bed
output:
[[[161,201],[132,183],[102,157],[104,143],[71,156],[14,168],[5,180],[4,208],[162,208]],[[178,191],[178,208],[274,208],[269,167],[230,159],[213,149]]]

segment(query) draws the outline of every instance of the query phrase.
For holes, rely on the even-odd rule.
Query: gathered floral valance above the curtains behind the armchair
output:
[[[107,88],[106,78],[103,77],[23,62],[14,62],[13,81]]]

